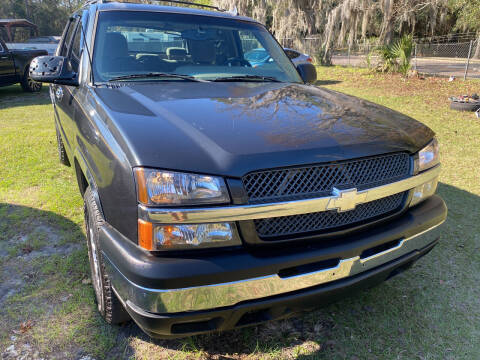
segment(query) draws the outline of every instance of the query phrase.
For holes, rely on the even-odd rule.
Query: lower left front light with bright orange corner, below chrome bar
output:
[[[148,251],[193,250],[241,245],[234,223],[157,225],[138,221],[139,245]]]

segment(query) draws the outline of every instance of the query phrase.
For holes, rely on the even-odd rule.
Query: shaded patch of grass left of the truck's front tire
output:
[[[78,224],[0,203],[0,358],[103,358],[117,330],[98,316],[89,277]]]

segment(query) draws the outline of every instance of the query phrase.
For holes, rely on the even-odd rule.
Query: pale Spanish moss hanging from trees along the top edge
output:
[[[469,1],[469,0],[465,0]],[[480,1],[480,0],[476,0]],[[448,14],[447,0],[214,0],[223,8],[234,5],[261,22],[271,18],[272,31],[279,39],[300,39],[311,34],[323,40],[323,54],[333,46],[366,41],[368,36],[389,44],[404,33],[417,29],[435,34]],[[425,34],[422,34],[425,35]]]

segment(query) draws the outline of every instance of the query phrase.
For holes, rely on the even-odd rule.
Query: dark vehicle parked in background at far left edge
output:
[[[42,83],[29,76],[29,66],[33,58],[47,54],[44,50],[9,50],[0,39],[0,86],[20,83],[27,92],[42,90]]]

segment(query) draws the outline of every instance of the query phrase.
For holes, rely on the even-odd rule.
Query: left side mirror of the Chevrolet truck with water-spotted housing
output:
[[[78,76],[63,56],[38,56],[30,63],[30,77],[37,82],[78,86]]]

